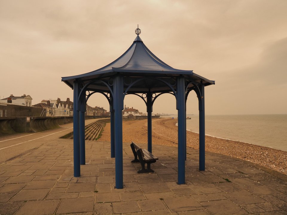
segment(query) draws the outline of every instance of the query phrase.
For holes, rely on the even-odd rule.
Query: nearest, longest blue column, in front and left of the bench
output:
[[[123,188],[123,78],[114,79],[114,110],[115,110],[115,177],[117,189]]]

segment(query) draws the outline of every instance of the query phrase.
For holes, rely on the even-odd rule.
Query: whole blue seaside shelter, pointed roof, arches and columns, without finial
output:
[[[138,46],[139,48],[136,48]],[[140,65],[133,62],[141,62]],[[150,64],[152,62],[152,64]],[[156,65],[156,67],[154,66]],[[131,80],[130,83],[124,83]],[[138,79],[137,79],[138,78]],[[157,87],[149,87],[152,81]],[[176,81],[175,81],[176,79]],[[132,81],[133,80],[133,81]],[[148,113],[148,151],[152,152],[152,106],[163,93],[175,96],[178,110],[178,184],[185,182],[186,160],[186,100],[194,90],[199,101],[199,170],[205,170],[204,86],[214,84],[192,70],[177,70],[158,59],[137,36],[131,47],[111,64],[78,76],[63,77],[74,89],[74,176],[80,176],[80,164],[85,164],[85,109],[89,97],[102,93],[109,101],[111,113],[111,157],[115,157],[116,188],[123,188],[122,110],[126,94],[145,93]],[[141,82],[143,81],[143,82]],[[145,81],[145,82],[144,82]],[[164,84],[162,84],[162,83]],[[135,85],[138,83],[137,85]],[[125,86],[126,85],[126,86]],[[135,85],[134,87],[132,87]],[[144,89],[144,90],[142,90]],[[88,93],[86,91],[93,91]],[[130,91],[130,93],[128,93]],[[107,96],[105,93],[110,93]],[[154,93],[159,93],[158,95]]]

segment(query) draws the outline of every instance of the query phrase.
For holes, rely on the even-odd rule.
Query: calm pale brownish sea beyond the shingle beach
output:
[[[199,133],[199,116],[187,117],[187,130]],[[205,115],[205,134],[287,151],[287,114]]]

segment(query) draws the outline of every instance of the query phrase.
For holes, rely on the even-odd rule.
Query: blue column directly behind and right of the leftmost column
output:
[[[85,110],[86,96],[82,95],[80,99],[80,164],[86,164],[86,147],[85,147]]]

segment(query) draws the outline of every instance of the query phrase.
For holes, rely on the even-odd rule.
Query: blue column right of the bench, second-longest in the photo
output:
[[[184,77],[177,78],[178,108],[178,184],[185,183],[185,84]]]

